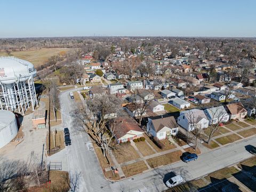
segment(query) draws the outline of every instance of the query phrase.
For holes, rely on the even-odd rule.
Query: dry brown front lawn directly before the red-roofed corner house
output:
[[[124,163],[140,157],[131,145],[118,145],[113,151],[113,154],[118,163]]]

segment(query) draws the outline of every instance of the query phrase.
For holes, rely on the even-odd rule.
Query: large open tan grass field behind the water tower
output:
[[[43,65],[47,59],[52,57],[53,55],[59,54],[61,51],[69,51],[71,49],[68,48],[43,48],[40,50],[34,51],[13,51],[11,55],[17,57],[19,59],[27,60],[34,64],[35,67]],[[7,55],[5,51],[0,52],[1,55]]]

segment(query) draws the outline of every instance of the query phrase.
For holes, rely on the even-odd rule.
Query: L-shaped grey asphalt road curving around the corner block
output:
[[[252,157],[245,150],[245,146],[256,146],[256,138],[250,138],[199,155],[197,161],[188,164],[180,161],[111,183],[103,177],[94,150],[90,148],[89,136],[85,133],[77,133],[73,127],[70,111],[73,110],[75,101],[70,99],[69,91],[61,92],[60,102],[63,127],[69,128],[72,140],[72,145],[66,148],[70,179],[75,179],[79,174],[76,191],[163,191],[167,189],[163,181],[169,179],[170,172],[182,175],[186,181],[194,180]]]

